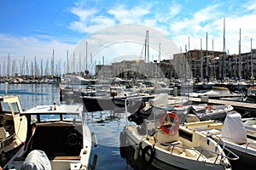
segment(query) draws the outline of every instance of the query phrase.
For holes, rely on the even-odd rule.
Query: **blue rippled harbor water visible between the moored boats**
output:
[[[0,95],[5,93],[5,84],[0,83]],[[34,105],[57,105],[60,103],[60,91],[57,84],[9,84],[8,94],[18,94],[23,110]],[[83,105],[82,99],[77,99]],[[92,147],[90,155],[90,169],[154,169],[148,165],[134,162],[133,151],[126,153],[131,160],[122,158],[119,150],[119,133],[125,127],[124,112],[112,113],[110,111],[84,112],[85,122],[91,132],[96,133],[98,145]],[[233,167],[233,166],[232,166]],[[235,166],[232,169],[241,169]]]

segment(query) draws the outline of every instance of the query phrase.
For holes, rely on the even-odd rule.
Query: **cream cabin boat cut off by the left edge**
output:
[[[17,95],[0,96],[0,166],[19,150],[26,140],[26,116],[20,116]]]

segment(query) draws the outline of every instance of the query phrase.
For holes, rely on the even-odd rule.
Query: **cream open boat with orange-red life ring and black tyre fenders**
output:
[[[160,108],[154,108],[139,126],[127,121],[120,133],[121,156],[127,156],[128,148],[134,150],[135,161],[142,160],[160,169],[231,168],[229,157],[216,141],[179,126],[176,114]]]

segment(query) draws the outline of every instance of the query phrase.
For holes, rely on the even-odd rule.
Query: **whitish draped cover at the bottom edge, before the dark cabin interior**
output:
[[[43,150],[32,150],[22,164],[21,170],[51,170],[48,157]]]

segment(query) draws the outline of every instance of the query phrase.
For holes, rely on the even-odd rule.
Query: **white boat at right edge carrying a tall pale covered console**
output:
[[[238,160],[231,161],[231,165],[255,169],[256,140],[247,135],[247,129],[239,113],[227,115],[224,123],[214,121],[190,122],[185,123],[185,126],[217,140],[224,148],[239,156]],[[219,139],[221,140],[219,141]]]

